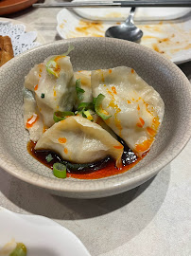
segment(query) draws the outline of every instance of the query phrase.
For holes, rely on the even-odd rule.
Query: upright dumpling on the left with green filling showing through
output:
[[[56,76],[46,70],[49,61],[56,64]],[[25,86],[35,93],[44,126],[52,126],[54,112],[71,111],[76,101],[76,79],[70,57],[49,57],[43,64],[36,65],[26,76]]]

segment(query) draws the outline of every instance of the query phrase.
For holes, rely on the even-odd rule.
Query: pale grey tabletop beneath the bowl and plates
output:
[[[48,43],[61,39],[56,31],[59,11],[29,8],[6,17],[27,23]],[[180,67],[191,80],[191,62]],[[0,205],[55,220],[73,231],[92,256],[188,256],[190,159],[191,141],[145,184],[129,192],[90,200],[52,195],[0,169]]]

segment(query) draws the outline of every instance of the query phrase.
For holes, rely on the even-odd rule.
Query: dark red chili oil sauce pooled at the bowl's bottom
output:
[[[121,141],[120,141],[121,142]],[[58,155],[55,152],[48,151],[48,150],[41,150],[37,151],[34,149],[36,143],[33,141],[29,141],[27,143],[27,151],[30,155],[32,155],[34,158],[36,158],[38,161],[43,163],[43,165],[47,166],[50,169],[53,169],[53,164],[56,162],[61,162],[62,158],[60,155]],[[123,142],[124,145],[124,142]],[[53,159],[48,163],[45,159],[47,155],[51,154]],[[135,166],[143,157],[147,155],[144,154],[142,157],[137,157],[134,153],[130,151],[130,149],[127,147],[127,145],[124,145],[124,154],[122,155],[122,162],[123,166],[120,169],[117,169],[115,167],[115,161],[113,158],[107,158],[105,160],[101,160],[96,162],[96,166],[101,166],[101,169],[99,170],[89,170],[85,172],[74,172],[74,171],[67,171],[67,177],[73,177],[73,178],[79,178],[79,179],[98,179],[103,177],[112,176],[115,174],[123,174],[130,170],[133,166]],[[104,163],[105,161],[105,163]]]

